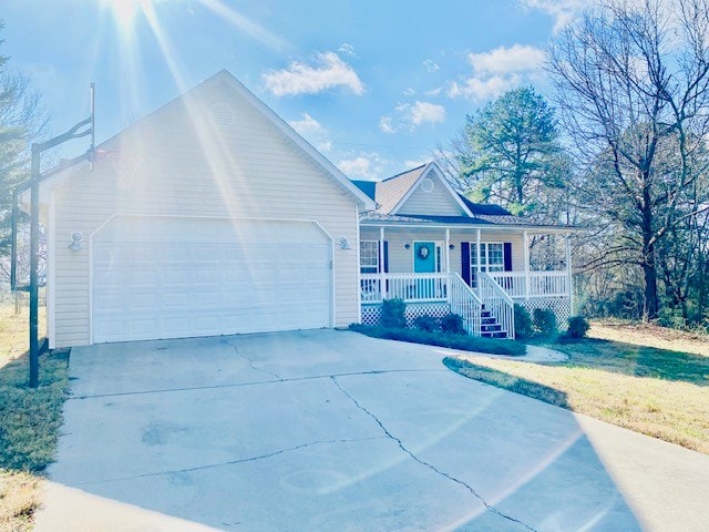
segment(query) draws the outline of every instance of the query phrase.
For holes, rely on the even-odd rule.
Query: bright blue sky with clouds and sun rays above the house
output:
[[[3,0],[0,52],[52,133],[88,114],[91,81],[102,141],[226,69],[350,177],[382,178],[503,91],[544,91],[544,45],[585,1]]]

